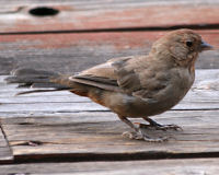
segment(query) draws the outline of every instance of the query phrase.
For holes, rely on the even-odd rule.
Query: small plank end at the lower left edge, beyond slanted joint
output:
[[[1,121],[0,121],[0,164],[1,163],[11,163],[13,161],[13,156],[11,150],[8,145],[8,142],[1,130]],[[1,167],[0,167],[1,170]]]

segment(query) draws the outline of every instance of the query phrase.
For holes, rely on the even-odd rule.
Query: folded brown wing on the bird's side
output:
[[[152,90],[163,89],[165,84],[149,69],[150,59],[146,56],[123,57],[82,71],[69,80],[108,91],[125,92],[140,98],[151,98]]]

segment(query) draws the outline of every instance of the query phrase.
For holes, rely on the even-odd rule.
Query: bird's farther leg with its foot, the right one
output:
[[[142,118],[145,120],[147,120],[150,124],[150,126],[155,127],[157,129],[160,129],[160,130],[168,130],[168,129],[183,130],[177,125],[161,125],[161,124],[158,124],[157,121],[152,120],[149,117],[142,117]]]

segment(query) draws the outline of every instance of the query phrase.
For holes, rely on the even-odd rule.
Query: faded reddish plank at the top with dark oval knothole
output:
[[[18,1],[16,1],[18,2]],[[165,5],[164,5],[165,3]],[[33,8],[49,7],[59,13],[36,18],[28,12]],[[13,5],[1,3],[0,32],[33,31],[87,31],[101,28],[171,27],[182,25],[217,24],[218,1],[26,1]],[[4,8],[3,8],[4,7]],[[165,15],[163,15],[165,14]],[[205,15],[203,15],[205,14]]]

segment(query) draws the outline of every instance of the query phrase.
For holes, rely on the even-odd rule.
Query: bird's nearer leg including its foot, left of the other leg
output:
[[[124,121],[126,125],[128,125],[135,131],[135,133],[124,132],[123,136],[128,136],[130,139],[145,140],[148,142],[162,142],[162,141],[168,140],[168,138],[150,138],[145,133],[142,128],[136,127],[130,120],[127,119],[127,117],[124,117],[120,115],[118,115],[118,117],[122,121]]]

